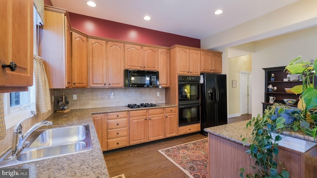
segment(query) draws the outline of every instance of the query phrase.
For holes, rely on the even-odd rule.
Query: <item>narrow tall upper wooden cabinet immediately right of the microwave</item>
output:
[[[159,85],[169,87],[170,83],[170,57],[168,49],[159,49]]]

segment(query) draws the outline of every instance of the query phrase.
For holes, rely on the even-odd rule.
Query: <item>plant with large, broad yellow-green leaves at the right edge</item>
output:
[[[299,74],[302,77],[302,85],[291,88],[295,94],[301,94],[301,103],[298,107],[302,109],[301,117],[292,125],[294,131],[317,136],[317,89],[315,88],[315,77],[317,59],[304,61],[301,56],[290,61],[285,67],[290,74]]]

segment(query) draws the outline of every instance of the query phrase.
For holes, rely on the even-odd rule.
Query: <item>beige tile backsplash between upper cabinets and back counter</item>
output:
[[[111,92],[113,92],[113,98]],[[65,93],[69,101],[68,109],[126,106],[131,103],[165,103],[164,88],[55,89],[55,98],[61,96],[62,93]],[[76,100],[73,99],[74,94],[76,94]],[[56,104],[57,101],[54,102]]]

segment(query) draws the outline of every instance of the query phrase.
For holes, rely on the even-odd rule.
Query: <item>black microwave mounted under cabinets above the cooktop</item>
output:
[[[124,87],[159,87],[159,72],[124,70]]]

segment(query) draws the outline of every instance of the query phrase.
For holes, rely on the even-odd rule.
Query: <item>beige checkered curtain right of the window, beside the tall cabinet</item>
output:
[[[36,110],[34,114],[48,112],[51,110],[49,81],[46,76],[43,58],[37,55],[34,55],[34,78],[36,88]]]

